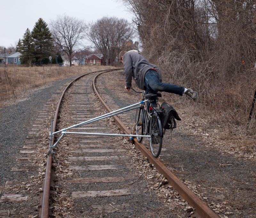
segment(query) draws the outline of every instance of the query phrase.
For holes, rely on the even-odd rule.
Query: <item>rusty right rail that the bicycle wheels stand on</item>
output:
[[[102,73],[100,73],[102,74]],[[95,76],[93,80],[93,88],[100,99],[101,103],[104,105],[104,107],[107,109],[107,111],[110,113],[112,110],[108,107],[108,105],[105,103],[105,101],[100,97],[99,92],[96,89],[95,81],[96,78],[100,75],[98,74]],[[123,124],[123,122],[117,117],[113,116],[114,120],[116,121],[119,128],[121,128],[125,134],[130,135],[130,130]],[[133,129],[133,134],[135,132],[135,126]],[[126,137],[130,140],[129,137]],[[156,167],[156,170],[164,175],[166,179],[168,180],[168,184],[171,185],[175,190],[177,190],[180,194],[180,197],[188,202],[188,204],[196,209],[195,214],[196,217],[201,218],[219,218],[217,214],[215,214],[208,206],[204,204],[203,201],[201,201],[188,187],[182,183],[166,166],[164,166],[163,163],[161,163],[157,158],[154,158],[151,154],[151,152],[141,143],[137,141],[135,138],[134,144],[138,150],[141,151],[143,156],[147,157],[149,162],[154,164],[154,167]]]

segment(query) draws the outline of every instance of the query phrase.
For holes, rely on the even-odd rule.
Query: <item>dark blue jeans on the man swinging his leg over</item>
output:
[[[182,96],[185,90],[185,88],[181,86],[159,82],[159,74],[155,70],[147,71],[144,77],[144,86],[146,87],[146,94],[163,91],[163,92],[169,92],[169,93]],[[156,103],[156,102],[152,102],[152,103]],[[149,104],[147,104],[147,107],[149,107]]]

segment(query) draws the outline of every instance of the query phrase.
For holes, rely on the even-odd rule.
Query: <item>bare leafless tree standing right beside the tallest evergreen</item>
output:
[[[54,42],[67,54],[71,66],[74,52],[79,49],[81,40],[85,37],[86,24],[83,20],[64,14],[59,15],[55,21],[52,20],[49,26]]]

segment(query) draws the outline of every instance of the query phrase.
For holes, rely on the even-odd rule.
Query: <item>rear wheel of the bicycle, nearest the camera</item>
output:
[[[163,143],[163,126],[157,113],[153,113],[151,117],[149,134],[151,135],[149,138],[151,153],[155,158],[157,158],[161,152]]]

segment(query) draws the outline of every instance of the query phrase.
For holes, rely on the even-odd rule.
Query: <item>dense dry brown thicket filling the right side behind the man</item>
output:
[[[227,129],[226,138],[255,140],[255,108],[248,122],[256,88],[255,1],[122,1],[134,13],[142,55],[162,69],[164,82],[199,92],[190,110]]]

